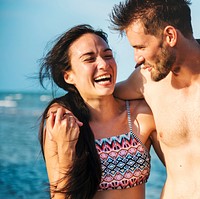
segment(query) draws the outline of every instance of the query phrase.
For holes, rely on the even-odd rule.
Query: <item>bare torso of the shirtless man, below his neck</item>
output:
[[[200,78],[187,88],[175,88],[168,76],[144,84],[144,94],[166,160],[162,198],[200,198]]]

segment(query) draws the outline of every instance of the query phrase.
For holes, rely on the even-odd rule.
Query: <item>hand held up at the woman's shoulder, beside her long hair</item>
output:
[[[46,121],[49,139],[57,144],[59,162],[63,156],[73,159],[79,137],[81,122],[66,108],[53,104],[48,111]],[[64,161],[65,162],[65,161]]]

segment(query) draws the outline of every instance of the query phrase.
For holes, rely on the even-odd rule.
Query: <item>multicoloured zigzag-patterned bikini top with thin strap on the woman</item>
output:
[[[135,187],[147,182],[150,175],[150,154],[132,132],[128,101],[126,109],[130,132],[95,140],[102,168],[99,191]]]

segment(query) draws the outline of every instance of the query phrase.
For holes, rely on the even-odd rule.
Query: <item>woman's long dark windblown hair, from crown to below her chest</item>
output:
[[[75,86],[67,84],[63,77],[64,71],[69,70],[71,67],[69,57],[70,46],[76,39],[86,33],[96,34],[108,43],[107,34],[102,30],[94,30],[86,24],[75,26],[58,39],[52,50],[44,58],[39,72],[40,83],[42,85],[43,80],[48,78],[60,88],[68,91],[65,96],[56,98],[50,102],[42,115],[39,133],[42,151],[45,117],[53,103],[59,103],[71,110],[83,122],[76,144],[75,160],[70,171],[66,174],[69,180],[65,187],[58,191],[65,193],[66,198],[70,199],[92,199],[98,190],[101,180],[100,158],[96,150],[94,134],[89,126],[89,109]]]

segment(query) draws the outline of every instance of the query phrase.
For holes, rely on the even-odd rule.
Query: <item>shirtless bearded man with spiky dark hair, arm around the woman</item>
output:
[[[187,0],[127,0],[110,16],[142,64],[115,95],[144,97],[165,157],[162,199],[200,198],[200,45]]]

